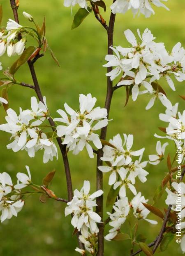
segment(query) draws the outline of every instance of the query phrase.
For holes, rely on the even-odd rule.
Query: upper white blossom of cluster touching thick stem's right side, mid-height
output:
[[[117,134],[113,137],[113,140],[109,140],[109,142],[113,145],[104,146],[103,148],[103,156],[101,157],[102,161],[110,161],[113,162],[112,166],[116,166],[120,161],[124,161],[125,165],[130,164],[132,161],[132,156],[140,156],[143,154],[144,148],[139,150],[132,150],[134,137],[132,134],[128,136],[124,133],[124,143],[121,139],[120,134]],[[124,148],[126,146],[126,148]]]

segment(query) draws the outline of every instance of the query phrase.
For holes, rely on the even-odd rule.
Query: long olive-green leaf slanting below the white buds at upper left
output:
[[[19,57],[16,60],[16,62],[14,62],[14,64],[11,66],[11,68],[9,69],[9,73],[11,73],[12,75],[16,73],[16,71],[20,68],[20,66],[22,66],[25,62],[27,62],[27,60],[29,59],[29,57],[32,55],[34,51],[35,51],[34,46],[29,46],[27,49],[25,49],[21,57]]]

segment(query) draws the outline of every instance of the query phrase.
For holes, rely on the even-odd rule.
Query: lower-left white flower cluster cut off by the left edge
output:
[[[12,179],[8,173],[0,173],[0,220],[3,222],[6,219],[17,216],[24,205],[21,199],[20,190],[31,183],[31,175],[29,167],[26,166],[28,175],[25,173],[17,173],[17,184],[13,185]]]

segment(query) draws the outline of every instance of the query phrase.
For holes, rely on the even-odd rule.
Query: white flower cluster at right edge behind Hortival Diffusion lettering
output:
[[[178,216],[178,221],[176,225],[177,230],[183,230],[185,228],[185,183],[173,182],[172,184],[173,191],[166,188],[166,192],[168,196],[166,198],[166,204],[171,205],[171,209],[176,211],[176,215]],[[183,237],[181,238],[180,247],[183,253],[185,253],[185,232],[183,233]]]

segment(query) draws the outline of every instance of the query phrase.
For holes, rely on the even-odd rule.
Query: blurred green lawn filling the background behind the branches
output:
[[[107,12],[104,18],[108,20],[109,5],[107,4]],[[3,6],[3,25],[6,24],[8,18],[13,18],[9,1],[1,0]],[[173,45],[180,41],[185,45],[184,22],[185,19],[185,1],[169,0],[167,6],[170,12],[163,8],[155,8],[156,14],[149,19],[145,19],[143,15],[140,17],[132,17],[131,12],[125,15],[118,14],[115,26],[115,45],[127,46],[123,31],[130,28],[134,33],[140,28],[143,31],[148,27],[157,42],[164,42],[166,49],[171,51]],[[73,8],[75,14],[77,7]],[[71,30],[73,17],[70,8],[63,6],[62,0],[46,1],[46,0],[24,0],[20,1],[20,22],[28,24],[28,21],[21,15],[23,11],[32,14],[36,21],[42,22],[43,16],[46,17],[46,37],[50,47],[53,49],[56,57],[59,59],[61,68],[59,69],[49,52],[39,59],[35,65],[37,76],[39,79],[42,92],[46,95],[47,103],[52,116],[57,116],[56,110],[63,108],[63,104],[67,102],[71,107],[78,108],[79,93],[92,93],[97,97],[97,105],[104,106],[106,92],[106,69],[102,67],[105,63],[106,55],[106,32],[100,24],[90,14],[89,17],[75,30]],[[13,62],[14,58],[1,57],[3,68],[7,68]],[[16,74],[18,81],[32,83],[28,66],[24,66]],[[176,92],[172,92],[168,85],[164,82],[164,88],[173,104],[180,102],[180,110],[183,109],[183,100],[178,95],[184,94],[183,83],[176,82]],[[10,107],[18,111],[19,106],[23,109],[30,108],[30,97],[34,95],[34,91],[29,88],[23,88],[14,85],[9,91]],[[127,107],[123,107],[125,103],[125,90],[121,88],[115,92],[113,97],[110,119],[113,121],[109,124],[108,138],[117,133],[134,134],[134,149],[145,147],[143,159],[147,159],[148,154],[155,152],[155,144],[157,139],[154,133],[160,134],[158,126],[164,126],[158,119],[159,113],[164,112],[165,108],[159,102],[155,103],[155,107],[149,111],[145,110],[145,106],[149,98],[140,96],[133,103],[130,99]],[[0,108],[0,123],[4,123],[5,112]],[[32,179],[35,183],[40,184],[42,178],[51,171],[56,169],[55,179],[51,189],[55,191],[59,197],[67,197],[64,168],[59,152],[58,161],[42,163],[43,152],[38,152],[34,159],[28,157],[23,152],[13,153],[7,150],[9,134],[0,133],[0,172],[6,171],[14,178],[16,173],[25,171],[25,165],[30,166]],[[168,147],[167,152],[173,154],[173,147]],[[73,187],[80,189],[83,180],[90,180],[92,190],[95,190],[95,159],[89,159],[86,152],[82,152],[78,156],[69,153],[71,166]],[[148,181],[145,184],[140,182],[136,185],[137,191],[141,191],[149,203],[152,203],[153,194],[159,185],[160,180],[166,172],[166,159],[157,167],[149,166]],[[108,192],[108,176],[104,175],[104,191],[105,197]],[[161,209],[164,207],[164,199],[166,194],[158,204]],[[17,218],[12,218],[0,225],[0,255],[5,256],[71,256],[78,255],[74,252],[77,246],[76,237],[72,237],[73,228],[70,225],[70,217],[64,216],[65,205],[60,202],[48,201],[46,204],[39,202],[37,195],[26,199],[23,210],[18,214]],[[106,217],[106,211],[105,211]],[[161,220],[150,214],[150,218],[156,219],[161,225]],[[151,242],[160,225],[153,226],[141,220],[139,229],[146,235],[147,242]],[[106,231],[107,232],[107,231]],[[125,224],[123,232],[129,232],[128,225]],[[130,255],[128,242],[105,242],[106,256]],[[162,255],[181,255],[180,248],[174,240],[167,251]]]

